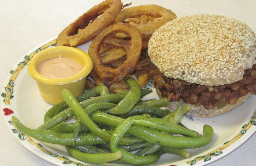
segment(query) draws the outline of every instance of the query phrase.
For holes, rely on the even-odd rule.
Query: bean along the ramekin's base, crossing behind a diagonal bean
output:
[[[87,90],[80,96],[76,97],[79,102],[82,102],[83,100],[86,100],[91,97],[99,96],[99,95],[106,95],[109,94],[109,90],[106,86],[96,86],[90,90]],[[60,102],[59,104],[54,105],[52,108],[50,108],[44,115],[44,122],[48,121],[51,117],[54,117],[64,109],[67,109],[68,105],[65,102]]]

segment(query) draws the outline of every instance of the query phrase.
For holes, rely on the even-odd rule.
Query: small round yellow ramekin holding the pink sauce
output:
[[[67,78],[48,78],[38,72],[43,61],[54,57],[72,58],[82,64],[84,68],[78,74]],[[86,77],[92,71],[92,59],[84,51],[74,47],[52,47],[36,54],[28,63],[28,72],[36,80],[42,98],[50,104],[58,104],[63,100],[62,89],[68,89],[74,96],[84,92]]]

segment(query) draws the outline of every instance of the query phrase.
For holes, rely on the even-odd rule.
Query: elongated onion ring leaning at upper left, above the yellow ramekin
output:
[[[114,21],[121,8],[121,0],[105,0],[94,6],[58,35],[56,46],[76,47],[89,41]]]

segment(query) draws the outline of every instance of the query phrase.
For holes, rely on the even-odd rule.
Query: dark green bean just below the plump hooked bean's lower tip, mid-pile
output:
[[[134,116],[134,115],[141,115],[143,113],[149,113],[156,115],[158,117],[164,117],[170,113],[170,110],[163,110],[158,107],[152,107],[152,106],[147,106],[147,105],[138,105],[133,107],[132,110],[129,112],[125,113],[124,115],[120,115],[119,117],[122,117],[124,119]]]

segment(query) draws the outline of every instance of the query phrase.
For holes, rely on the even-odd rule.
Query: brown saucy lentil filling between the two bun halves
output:
[[[164,76],[158,68],[151,64],[150,77],[163,98],[170,102],[180,101],[194,105],[203,105],[205,109],[217,106],[219,109],[226,104],[236,104],[238,98],[248,92],[256,94],[256,64],[244,70],[243,79],[232,84],[204,86]]]

